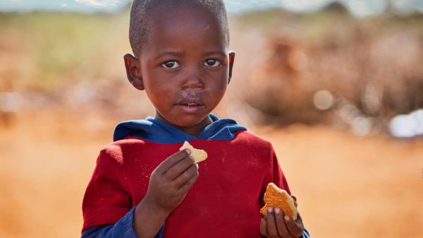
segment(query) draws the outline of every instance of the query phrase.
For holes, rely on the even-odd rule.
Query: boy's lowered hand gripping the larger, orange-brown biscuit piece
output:
[[[293,220],[289,215],[284,215],[281,208],[269,207],[266,216],[260,222],[260,232],[269,238],[298,238],[304,232],[304,225],[300,214],[297,220]]]

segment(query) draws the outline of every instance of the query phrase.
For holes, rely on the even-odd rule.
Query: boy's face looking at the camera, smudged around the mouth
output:
[[[203,8],[159,6],[151,16],[149,40],[133,70],[135,88],[145,89],[158,119],[199,133],[225,94],[235,54],[222,24]]]

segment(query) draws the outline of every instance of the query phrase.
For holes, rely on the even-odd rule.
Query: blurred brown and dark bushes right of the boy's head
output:
[[[324,123],[367,135],[423,107],[422,13],[388,8],[357,19],[335,3],[311,14],[248,17],[260,14],[274,20],[263,30],[266,59],[250,76],[255,90],[245,100],[263,123]]]

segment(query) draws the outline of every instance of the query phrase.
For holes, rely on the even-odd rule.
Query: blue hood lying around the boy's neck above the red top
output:
[[[209,114],[209,116],[213,123],[204,127],[197,137],[190,136],[154,117],[147,117],[118,124],[114,130],[113,141],[121,140],[126,136],[136,136],[157,143],[180,143],[195,139],[229,141],[235,137],[236,131],[247,130],[244,126],[236,124],[233,119],[219,119],[214,114]]]

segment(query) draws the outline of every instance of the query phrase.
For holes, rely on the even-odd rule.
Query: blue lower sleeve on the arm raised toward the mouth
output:
[[[81,238],[137,238],[133,227],[134,212],[135,207],[115,224],[90,227],[82,233]],[[163,227],[160,227],[155,238],[163,236]]]

